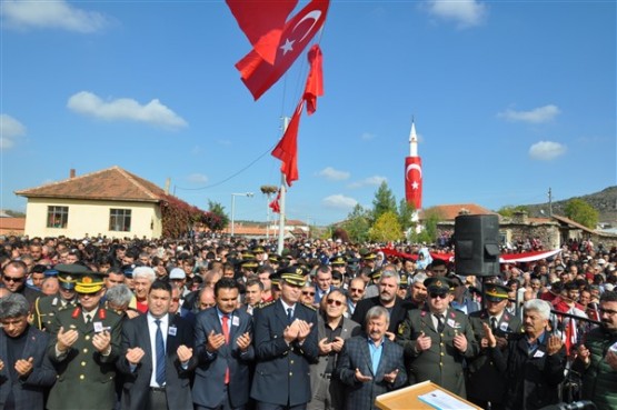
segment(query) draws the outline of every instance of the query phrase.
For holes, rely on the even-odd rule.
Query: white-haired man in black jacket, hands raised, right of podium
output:
[[[512,334],[502,352],[488,323],[484,323],[489,354],[497,369],[507,374],[506,410],[536,410],[559,402],[566,349],[561,338],[547,330],[550,304],[531,299],[525,302],[524,333]]]

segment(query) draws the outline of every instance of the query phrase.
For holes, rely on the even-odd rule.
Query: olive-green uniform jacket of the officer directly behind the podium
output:
[[[405,348],[410,359],[409,381],[418,383],[430,380],[462,398],[467,397],[465,389],[464,359],[471,359],[479,351],[467,316],[458,310],[448,308],[445,312],[446,327],[441,333],[435,329],[432,314],[425,308],[410,310],[407,319],[398,332],[398,341]],[[430,337],[430,349],[416,352],[416,339],[424,332]],[[454,347],[454,338],[462,333],[467,338],[467,350],[461,353]]]

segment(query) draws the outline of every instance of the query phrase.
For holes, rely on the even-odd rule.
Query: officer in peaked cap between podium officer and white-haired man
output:
[[[502,284],[487,283],[486,308],[469,316],[476,340],[480,343],[480,353],[469,362],[467,396],[469,401],[485,409],[502,409],[501,401],[506,393],[506,374],[499,372],[489,358],[488,340],[482,323],[492,329],[497,338],[497,348],[506,349],[508,337],[520,333],[521,322],[516,316],[506,311],[509,289]]]

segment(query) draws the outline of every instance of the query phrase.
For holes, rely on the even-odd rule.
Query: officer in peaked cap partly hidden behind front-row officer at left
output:
[[[41,330],[51,324],[59,310],[77,306],[74,292],[77,276],[88,272],[88,268],[81,264],[57,264],[54,269],[58,271],[58,292],[37,299],[32,312],[32,323]]]

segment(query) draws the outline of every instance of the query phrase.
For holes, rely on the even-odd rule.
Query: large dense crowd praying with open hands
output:
[[[427,380],[617,409],[617,249],[471,277],[446,246],[0,238],[0,410],[369,410]]]

